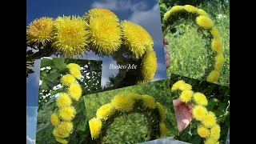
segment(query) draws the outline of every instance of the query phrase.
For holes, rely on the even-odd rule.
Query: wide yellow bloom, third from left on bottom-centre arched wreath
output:
[[[134,99],[125,95],[116,95],[111,100],[111,104],[116,110],[129,112],[134,108]]]

